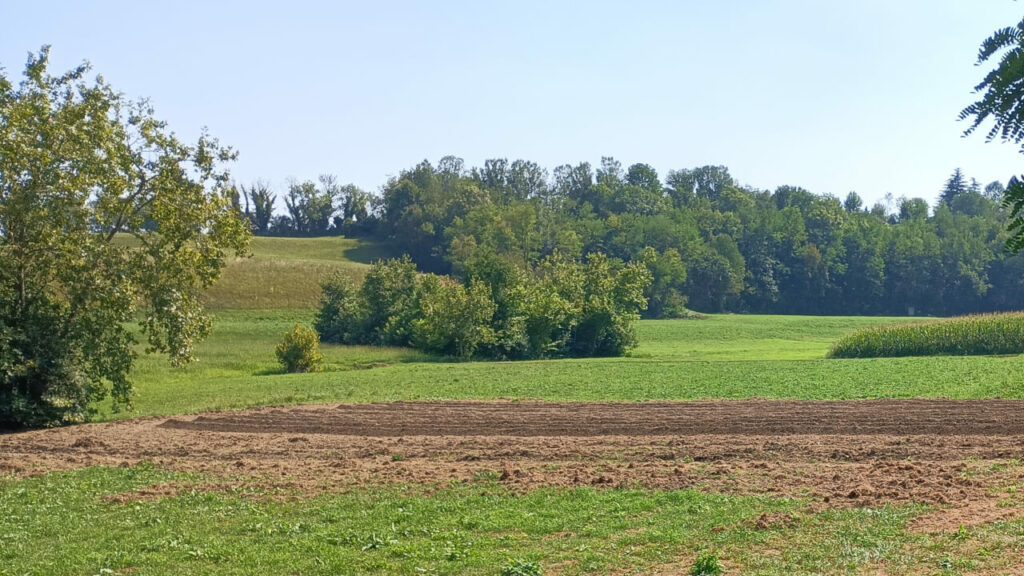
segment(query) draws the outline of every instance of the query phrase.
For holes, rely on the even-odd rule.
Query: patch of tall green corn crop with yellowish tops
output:
[[[972,356],[1024,353],[1024,313],[965,316],[847,334],[829,358]]]

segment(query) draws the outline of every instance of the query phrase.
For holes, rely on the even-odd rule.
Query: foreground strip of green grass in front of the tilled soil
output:
[[[549,575],[687,574],[700,552],[727,574],[997,574],[1024,545],[1021,521],[914,533],[916,505],[816,512],[694,490],[515,494],[487,478],[293,498],[201,481],[150,465],[0,479],[0,575],[497,575],[510,558]],[[168,482],[177,496],[124,498]]]

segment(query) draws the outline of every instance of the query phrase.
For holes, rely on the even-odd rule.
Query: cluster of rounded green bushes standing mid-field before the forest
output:
[[[315,328],[328,342],[413,346],[461,359],[621,356],[636,342],[651,275],[602,254],[555,254],[536,269],[494,254],[467,262],[465,280],[418,275],[408,256],[380,261],[361,286],[324,284]]]

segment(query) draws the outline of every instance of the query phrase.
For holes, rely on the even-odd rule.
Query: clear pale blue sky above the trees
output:
[[[423,159],[724,164],[743,183],[930,202],[959,166],[978,46],[1010,0],[3,2],[0,66],[52,44],[241,153],[239,181],[337,174],[376,191]]]

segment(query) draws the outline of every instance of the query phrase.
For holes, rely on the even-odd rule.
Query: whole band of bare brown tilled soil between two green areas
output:
[[[0,474],[18,476],[152,460],[289,494],[487,479],[796,496],[817,508],[916,501],[941,505],[919,519],[930,531],[1024,513],[1022,459],[1024,402],[1001,400],[322,405],[0,436]]]

